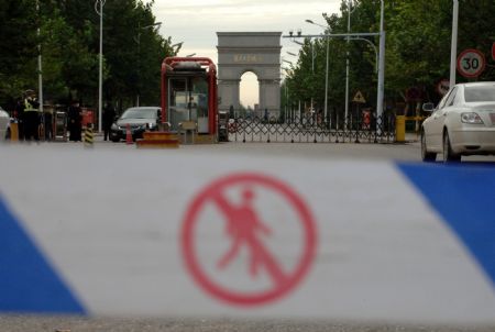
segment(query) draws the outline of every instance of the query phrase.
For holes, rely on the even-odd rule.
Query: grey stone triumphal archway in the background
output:
[[[260,110],[280,109],[282,32],[217,32],[219,111],[240,108],[241,76],[253,71],[260,82]]]

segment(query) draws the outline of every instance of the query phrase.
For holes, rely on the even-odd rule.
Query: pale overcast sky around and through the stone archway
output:
[[[321,13],[337,13],[341,0],[155,0],[153,13],[162,22],[161,34],[173,43],[184,42],[179,56],[196,53],[217,64],[217,32],[273,31],[288,34],[319,34],[322,29],[305,22],[309,19],[324,25]],[[282,56],[295,60],[287,51],[298,53],[298,45],[282,38]],[[257,102],[255,76],[243,76],[241,102]]]

